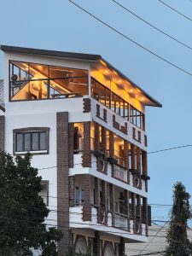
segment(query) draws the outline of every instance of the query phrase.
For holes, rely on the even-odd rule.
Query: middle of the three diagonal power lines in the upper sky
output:
[[[134,15],[135,17],[137,17],[139,20],[142,20],[144,23],[146,23],[148,26],[153,27],[156,31],[161,32],[162,34],[164,34],[166,37],[171,38],[172,40],[176,41],[178,44],[182,44],[183,46],[187,47],[188,49],[192,49],[192,47],[190,47],[188,44],[184,44],[183,42],[179,41],[177,38],[173,38],[172,36],[170,36],[168,33],[160,30],[160,28],[152,25],[151,23],[149,23],[147,20],[144,20],[141,16],[133,13],[130,9],[127,9],[124,5],[118,3],[115,0],[111,0],[113,1],[113,3],[116,3],[117,5],[119,5],[122,9],[125,9],[128,13],[130,13],[131,15]]]

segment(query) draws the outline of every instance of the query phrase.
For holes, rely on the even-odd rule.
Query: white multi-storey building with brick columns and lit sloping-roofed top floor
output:
[[[147,241],[145,107],[161,104],[100,55],[1,49],[0,149],[33,154],[59,255]]]

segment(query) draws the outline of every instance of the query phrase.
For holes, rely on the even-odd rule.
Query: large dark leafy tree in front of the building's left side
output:
[[[38,193],[41,177],[31,166],[32,156],[0,153],[0,256],[32,255],[32,248],[42,255],[55,256],[61,231],[46,228],[49,209]]]

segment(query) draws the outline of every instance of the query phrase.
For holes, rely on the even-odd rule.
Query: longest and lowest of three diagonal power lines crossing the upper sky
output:
[[[160,55],[154,53],[154,51],[144,47],[142,44],[137,43],[135,40],[127,37],[123,32],[119,32],[117,29],[115,29],[113,26],[108,25],[108,23],[104,22],[103,20],[99,19],[96,17],[96,15],[91,14],[89,11],[87,11],[86,9],[82,8],[79,4],[74,3],[72,0],[68,0],[70,3],[73,3],[75,6],[77,6],[79,9],[83,10],[86,14],[90,15],[92,18],[98,20],[99,22],[102,23],[102,25],[108,26],[108,28],[110,28],[111,30],[113,30],[114,32],[118,33],[120,36],[122,36],[123,38],[131,41],[131,43],[133,44],[137,44],[137,46],[139,46],[140,48],[146,50],[147,52],[149,52],[151,55],[156,56],[157,58],[159,58],[161,61],[165,61],[167,64],[171,65],[172,67],[176,67],[178,70],[182,71],[183,73],[187,73],[189,74],[189,76],[192,76],[192,73],[189,73],[188,71],[186,71],[185,69],[183,69],[182,67],[178,67],[176,64],[173,64],[171,61],[167,61],[164,57],[161,57]]]

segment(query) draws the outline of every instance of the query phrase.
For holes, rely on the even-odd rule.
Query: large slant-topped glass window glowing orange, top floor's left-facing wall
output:
[[[22,61],[9,62],[11,101],[88,95],[88,72]]]

